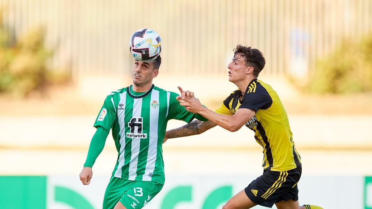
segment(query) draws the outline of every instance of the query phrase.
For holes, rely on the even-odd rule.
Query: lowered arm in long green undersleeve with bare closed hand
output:
[[[93,164],[96,161],[98,155],[102,152],[103,147],[105,147],[105,142],[108,135],[109,133],[102,126],[97,127],[97,131],[93,135],[92,141],[89,145],[87,160],[85,161],[84,167],[80,172],[80,181],[84,185],[88,185],[90,183],[90,179],[92,179]]]

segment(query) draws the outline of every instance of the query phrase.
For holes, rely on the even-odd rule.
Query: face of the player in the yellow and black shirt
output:
[[[246,66],[244,57],[237,54],[232,58],[232,61],[227,65],[227,68],[229,69],[229,81],[234,82],[244,80],[249,67]]]

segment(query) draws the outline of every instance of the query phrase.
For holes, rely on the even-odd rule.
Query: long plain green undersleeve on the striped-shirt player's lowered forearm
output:
[[[84,167],[93,167],[98,155],[102,152],[103,147],[105,147],[108,135],[109,132],[107,132],[105,128],[102,126],[97,127],[97,131],[93,135],[92,141],[90,141],[88,156],[84,163]]]

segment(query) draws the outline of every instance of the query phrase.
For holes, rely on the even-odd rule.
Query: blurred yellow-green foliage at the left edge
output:
[[[48,86],[71,79],[71,73],[47,67],[53,55],[44,46],[42,28],[29,30],[19,37],[3,25],[0,9],[0,94],[25,97],[31,92],[46,92]]]

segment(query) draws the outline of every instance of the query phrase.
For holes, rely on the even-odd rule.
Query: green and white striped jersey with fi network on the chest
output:
[[[135,94],[139,93],[131,93],[131,87],[110,93],[94,126],[108,132],[112,128],[118,151],[115,177],[164,184],[162,144],[168,120],[206,119],[180,106],[177,93],[152,85],[147,92]]]

